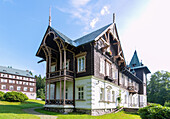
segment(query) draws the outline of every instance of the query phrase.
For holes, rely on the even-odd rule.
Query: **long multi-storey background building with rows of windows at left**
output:
[[[0,66],[0,91],[22,92],[29,99],[36,99],[36,79],[28,70]]]

